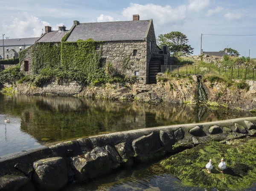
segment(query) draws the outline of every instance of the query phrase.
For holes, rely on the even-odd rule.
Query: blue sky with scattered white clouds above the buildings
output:
[[[153,19],[156,36],[181,31],[200,54],[201,34],[256,34],[255,0],[0,0],[0,34],[9,38],[39,37],[44,26]],[[0,37],[2,40],[2,36]],[[0,41],[2,42],[2,41]],[[233,48],[256,58],[256,36],[203,35],[204,51]]]

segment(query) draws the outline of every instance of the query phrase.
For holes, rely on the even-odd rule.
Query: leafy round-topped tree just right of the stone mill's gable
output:
[[[179,31],[172,31],[167,34],[159,34],[157,38],[159,46],[167,46],[170,52],[182,52],[192,54],[193,49],[188,45],[187,36]]]

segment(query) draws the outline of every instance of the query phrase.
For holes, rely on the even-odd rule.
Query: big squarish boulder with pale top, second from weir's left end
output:
[[[44,191],[57,191],[67,184],[67,163],[62,157],[41,159],[33,164],[33,181]]]

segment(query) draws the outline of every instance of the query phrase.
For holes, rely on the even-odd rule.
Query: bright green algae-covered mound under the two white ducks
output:
[[[218,164],[224,158],[227,169],[221,174]],[[212,173],[205,165],[212,159]],[[201,144],[160,162],[189,187],[218,188],[238,191],[256,182],[256,139],[235,140],[234,143]]]

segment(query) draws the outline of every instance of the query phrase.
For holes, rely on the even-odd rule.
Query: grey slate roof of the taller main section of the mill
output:
[[[80,23],[73,29],[67,41],[87,40],[119,41],[144,40],[150,20]]]

